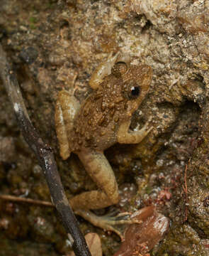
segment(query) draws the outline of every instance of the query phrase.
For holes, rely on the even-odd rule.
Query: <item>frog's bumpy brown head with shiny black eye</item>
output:
[[[121,95],[126,102],[128,115],[131,116],[147,95],[152,82],[152,68],[148,65],[117,63],[112,73],[123,80]]]

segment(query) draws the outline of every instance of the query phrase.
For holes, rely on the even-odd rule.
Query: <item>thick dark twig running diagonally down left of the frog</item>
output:
[[[23,137],[26,139],[26,142],[28,142],[30,149],[32,149],[37,156],[38,162],[43,169],[47,184],[50,188],[52,203],[55,204],[57,211],[60,213],[67,233],[72,235],[71,240],[74,253],[77,256],[90,256],[91,254],[86,245],[84,236],[79,230],[77,219],[65,196],[52,149],[49,145],[43,142],[28,117],[28,112],[23,102],[16,75],[13,73],[13,70],[11,70],[11,66],[6,58],[6,53],[1,45],[0,76],[13,105],[13,110],[18,119],[18,124],[23,133]],[[69,238],[71,238],[70,235]]]

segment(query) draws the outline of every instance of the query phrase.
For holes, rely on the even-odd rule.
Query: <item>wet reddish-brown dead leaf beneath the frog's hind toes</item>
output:
[[[125,240],[114,256],[148,256],[169,229],[169,218],[157,213],[154,206],[137,210],[132,218],[139,224],[132,224],[125,230]]]

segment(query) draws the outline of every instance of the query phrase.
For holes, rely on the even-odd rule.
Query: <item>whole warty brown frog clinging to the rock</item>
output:
[[[127,213],[98,216],[91,210],[106,208],[120,200],[118,183],[104,151],[113,144],[138,144],[153,127],[149,121],[138,131],[130,130],[132,114],[145,99],[152,82],[149,65],[130,65],[112,53],[91,75],[92,92],[79,102],[74,92],[61,90],[55,105],[55,129],[63,160],[77,154],[84,169],[98,187],[69,199],[74,213],[90,223],[123,234],[118,225],[130,224]]]

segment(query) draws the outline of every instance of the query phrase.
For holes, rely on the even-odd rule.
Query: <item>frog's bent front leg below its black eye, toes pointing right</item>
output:
[[[145,124],[142,129],[140,129],[137,132],[129,131],[130,127],[130,120],[127,122],[123,122],[123,124],[120,124],[120,127],[118,129],[117,139],[118,142],[121,144],[137,144],[142,142],[142,139],[144,139],[147,134],[153,129],[153,127],[149,127],[149,122]],[[149,129],[147,129],[149,127]]]

